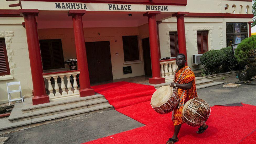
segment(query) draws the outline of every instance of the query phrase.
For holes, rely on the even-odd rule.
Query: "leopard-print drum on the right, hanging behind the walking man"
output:
[[[193,127],[201,126],[207,121],[211,113],[210,105],[200,99],[193,98],[185,103],[182,110],[183,121]]]

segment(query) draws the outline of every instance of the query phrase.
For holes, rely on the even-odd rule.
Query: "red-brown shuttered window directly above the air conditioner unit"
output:
[[[208,51],[208,31],[197,31],[197,50],[198,54]]]

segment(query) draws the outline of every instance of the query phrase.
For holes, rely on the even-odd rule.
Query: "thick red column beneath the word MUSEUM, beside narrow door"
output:
[[[156,15],[159,11],[149,11],[143,16],[148,17],[149,28],[149,41],[150,41],[150,56],[151,56],[151,68],[152,78],[149,79],[151,84],[165,83],[165,79],[160,76],[160,61],[159,61],[159,49],[158,49],[158,36],[157,36],[157,24]]]

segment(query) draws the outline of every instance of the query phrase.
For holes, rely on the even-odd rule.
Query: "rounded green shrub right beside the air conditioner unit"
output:
[[[204,53],[200,61],[201,64],[205,66],[207,75],[221,73],[227,61],[227,55],[221,50],[211,50]]]

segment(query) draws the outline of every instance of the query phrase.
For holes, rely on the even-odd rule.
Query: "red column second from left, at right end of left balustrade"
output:
[[[86,48],[85,48],[85,41],[84,41],[82,16],[85,13],[86,13],[86,10],[69,10],[68,12],[68,16],[72,16],[73,27],[74,27],[77,65],[78,65],[78,69],[80,70],[80,74],[79,74],[80,97],[94,95],[94,89],[92,89],[90,85]]]

